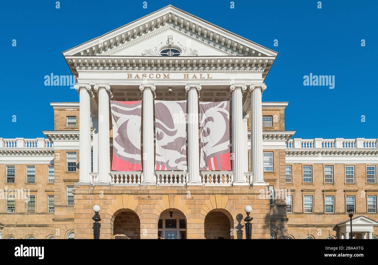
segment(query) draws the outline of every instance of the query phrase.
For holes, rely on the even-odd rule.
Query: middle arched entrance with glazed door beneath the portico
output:
[[[161,212],[158,239],[186,239],[186,218],[181,211],[167,209]]]

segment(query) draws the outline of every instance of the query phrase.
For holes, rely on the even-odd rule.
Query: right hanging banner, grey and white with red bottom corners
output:
[[[200,170],[231,170],[230,102],[200,102]]]

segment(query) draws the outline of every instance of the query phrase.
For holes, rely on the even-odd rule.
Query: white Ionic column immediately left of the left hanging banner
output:
[[[98,90],[98,184],[110,184],[110,135],[109,135],[109,97],[112,98],[108,84],[96,84]]]

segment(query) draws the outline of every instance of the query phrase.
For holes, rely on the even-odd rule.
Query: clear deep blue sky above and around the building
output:
[[[1,4],[0,137],[43,137],[53,129],[49,103],[79,100],[69,86],[44,86],[45,75],[70,75],[62,51],[169,4],[279,52],[263,101],[289,101],[286,129],[295,137],[378,137],[376,0],[324,0],[322,9],[317,0],[235,0],[234,9],[230,1],[147,0],[147,9],[142,0],[55,2]],[[335,88],[304,86],[310,73],[334,75]]]

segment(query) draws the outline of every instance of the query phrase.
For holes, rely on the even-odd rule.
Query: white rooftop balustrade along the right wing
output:
[[[301,139],[294,138],[288,140],[286,143],[286,148],[288,149],[309,149],[309,148],[377,148],[378,139]]]

